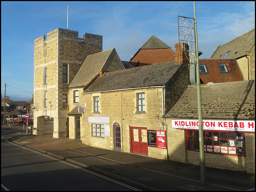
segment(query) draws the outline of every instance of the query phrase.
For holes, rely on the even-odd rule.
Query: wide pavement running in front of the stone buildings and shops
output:
[[[145,190],[254,190],[255,175],[206,167],[201,184],[200,166],[122,153],[83,144],[80,140],[45,135],[16,135],[18,143],[102,174],[135,184]]]

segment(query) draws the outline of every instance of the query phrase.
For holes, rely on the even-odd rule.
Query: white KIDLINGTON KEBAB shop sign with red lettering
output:
[[[172,128],[199,129],[199,122],[196,120],[172,120]],[[203,120],[203,129],[212,131],[255,132],[255,121]]]

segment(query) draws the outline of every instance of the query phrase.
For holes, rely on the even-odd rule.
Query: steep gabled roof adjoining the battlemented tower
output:
[[[115,67],[113,67],[113,58],[116,59],[117,57],[120,60],[116,53],[116,49],[114,48],[108,51],[88,55],[68,88],[84,87],[98,75],[99,71],[109,72],[125,69],[121,60]]]

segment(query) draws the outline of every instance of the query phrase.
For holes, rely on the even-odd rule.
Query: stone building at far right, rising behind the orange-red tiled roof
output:
[[[244,80],[255,79],[255,29],[219,45],[210,58],[236,59]]]

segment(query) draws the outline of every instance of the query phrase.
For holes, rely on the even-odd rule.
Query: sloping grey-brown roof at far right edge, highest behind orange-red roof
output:
[[[210,58],[219,58],[220,55],[222,55],[220,58],[223,58],[224,55],[230,51],[226,58],[237,59],[246,55],[246,51],[250,51],[253,45],[255,45],[255,29],[252,29],[224,45],[219,45]]]

